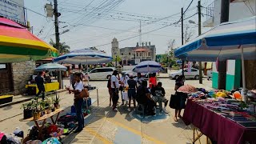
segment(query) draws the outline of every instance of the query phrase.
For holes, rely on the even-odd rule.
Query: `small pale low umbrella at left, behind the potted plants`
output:
[[[38,66],[35,71],[44,71],[44,70],[66,70],[66,66],[62,66],[58,63],[46,63],[41,66]]]

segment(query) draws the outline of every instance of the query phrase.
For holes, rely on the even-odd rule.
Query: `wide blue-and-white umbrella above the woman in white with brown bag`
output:
[[[70,63],[75,65],[94,65],[99,63],[107,63],[112,61],[112,57],[98,50],[82,49],[74,50],[69,54],[64,54],[58,58],[54,58],[54,62]]]

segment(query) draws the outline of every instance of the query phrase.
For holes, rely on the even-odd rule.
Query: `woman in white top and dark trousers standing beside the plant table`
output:
[[[81,91],[84,89],[82,79],[81,79],[81,73],[74,73],[74,90],[70,90],[70,88],[66,88],[66,90],[69,90],[70,92],[74,93],[74,106],[78,118],[78,128],[75,130],[75,133],[78,133],[82,131],[84,127],[84,117],[82,114],[82,104],[83,104],[83,98],[80,96]]]

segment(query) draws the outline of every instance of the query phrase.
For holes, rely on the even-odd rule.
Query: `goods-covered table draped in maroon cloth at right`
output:
[[[219,99],[189,99],[182,120],[186,125],[193,124],[193,130],[200,130],[218,144],[256,143],[255,116],[246,111],[239,111],[238,106],[232,102],[223,102],[229,100]],[[194,142],[202,134],[194,137]]]

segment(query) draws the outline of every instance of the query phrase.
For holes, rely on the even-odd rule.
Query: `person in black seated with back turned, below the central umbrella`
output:
[[[154,115],[154,106],[155,102],[152,98],[150,98],[150,91],[148,90],[147,82],[142,81],[142,85],[138,87],[136,100],[138,103],[144,105],[148,114]]]

